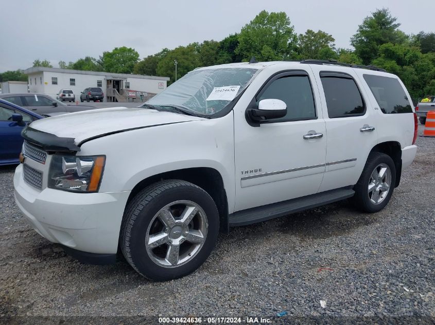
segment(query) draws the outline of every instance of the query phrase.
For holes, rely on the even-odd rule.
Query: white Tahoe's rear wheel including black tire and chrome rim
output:
[[[355,206],[363,212],[380,211],[390,201],[395,183],[396,167],[391,157],[381,152],[372,152],[354,186]]]

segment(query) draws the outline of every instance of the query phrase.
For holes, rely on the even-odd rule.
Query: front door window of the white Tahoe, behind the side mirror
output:
[[[308,75],[288,75],[275,79],[257,97],[257,103],[263,99],[280,99],[287,104],[287,114],[271,123],[316,119],[316,108],[312,97]]]

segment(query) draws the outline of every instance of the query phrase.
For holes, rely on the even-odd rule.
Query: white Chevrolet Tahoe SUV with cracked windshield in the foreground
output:
[[[138,273],[168,280],[195,271],[219,230],[347,198],[381,210],[416,132],[408,91],[381,69],[203,67],[141,107],[30,124],[15,200],[82,261],[113,262],[120,247]]]

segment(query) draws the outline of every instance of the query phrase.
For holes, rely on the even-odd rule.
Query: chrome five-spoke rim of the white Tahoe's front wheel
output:
[[[192,260],[207,236],[207,216],[192,201],[164,206],[152,218],[145,237],[151,260],[163,267],[177,267]]]

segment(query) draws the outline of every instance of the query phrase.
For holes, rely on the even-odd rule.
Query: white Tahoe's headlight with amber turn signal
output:
[[[97,192],[105,156],[58,156],[51,159],[48,187],[71,192]]]

